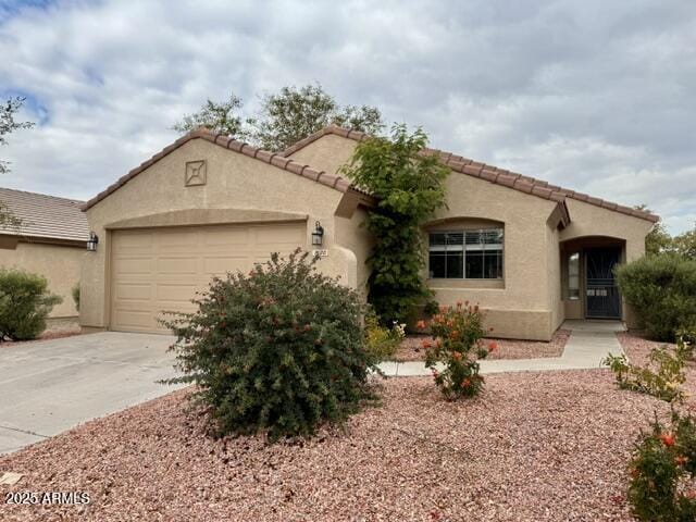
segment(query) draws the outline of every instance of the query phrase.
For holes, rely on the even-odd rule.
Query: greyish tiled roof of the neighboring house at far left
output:
[[[0,203],[22,222],[18,228],[0,227],[1,234],[66,241],[89,237],[87,216],[80,211],[83,201],[0,188]]]

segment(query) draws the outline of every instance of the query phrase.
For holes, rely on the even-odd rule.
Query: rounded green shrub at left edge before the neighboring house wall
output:
[[[62,302],[48,281],[21,270],[0,270],[0,340],[28,340],[46,330],[46,318]]]

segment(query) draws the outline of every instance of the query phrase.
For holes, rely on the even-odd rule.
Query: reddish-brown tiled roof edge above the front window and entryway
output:
[[[293,145],[288,149],[284,150],[282,152],[282,156],[289,157],[298,150],[307,147],[311,142],[318,140],[322,136],[326,136],[327,134],[334,134],[344,138],[352,139],[355,141],[361,141],[362,139],[365,139],[368,137],[366,134],[359,130],[349,130],[346,128],[337,127],[335,125],[331,125]],[[618,203],[612,203],[609,201],[605,201],[604,199],[594,198],[586,194],[570,190],[568,188],[562,188],[557,185],[551,185],[547,182],[535,179],[534,177],[530,176],[524,176],[522,174],[518,174],[505,169],[498,169],[494,165],[480,163],[477,161],[473,161],[469,158],[457,156],[451,152],[445,152],[437,149],[424,149],[423,153],[439,156],[443,162],[455,172],[467,174],[473,177],[478,177],[497,185],[504,185],[506,187],[521,190],[539,198],[550,199],[551,201],[562,203],[562,211],[564,211],[566,214],[568,212],[568,210],[564,208],[566,198],[571,198],[614,212],[620,212],[622,214],[633,215],[634,217],[647,220],[652,223],[659,221],[659,216],[649,212],[632,209],[630,207],[624,207]]]

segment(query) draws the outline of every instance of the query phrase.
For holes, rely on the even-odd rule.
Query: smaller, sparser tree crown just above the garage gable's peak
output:
[[[207,127],[225,136],[248,139],[251,135],[249,125],[253,124],[253,120],[244,119],[238,114],[243,105],[241,98],[234,92],[229,95],[227,101],[216,102],[208,99],[198,112],[185,115],[172,128],[179,133],[189,133],[198,127]]]

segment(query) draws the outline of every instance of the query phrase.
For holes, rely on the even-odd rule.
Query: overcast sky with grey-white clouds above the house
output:
[[[432,146],[696,221],[696,2],[0,0],[0,185],[87,199],[204,100],[319,82]]]

